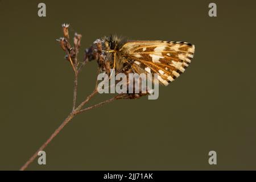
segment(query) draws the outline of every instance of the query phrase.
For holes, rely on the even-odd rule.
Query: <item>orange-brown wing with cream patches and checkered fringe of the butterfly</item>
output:
[[[159,73],[159,81],[168,85],[191,63],[195,46],[186,42],[131,41],[120,51],[133,60],[135,72]]]

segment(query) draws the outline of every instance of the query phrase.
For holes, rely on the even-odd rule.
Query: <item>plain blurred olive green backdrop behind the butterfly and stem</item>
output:
[[[114,101],[77,115],[47,146],[47,165],[35,160],[28,169],[256,169],[256,3],[213,1],[210,18],[210,2],[0,1],[0,169],[18,170],[72,109],[73,73],[55,40],[61,23],[82,34],[80,59],[109,34],[191,42],[195,57],[158,100]],[[82,71],[79,102],[93,90],[96,68]]]

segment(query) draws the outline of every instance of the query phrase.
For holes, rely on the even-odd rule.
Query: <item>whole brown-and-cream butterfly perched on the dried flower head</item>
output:
[[[162,40],[126,40],[118,36],[97,39],[85,50],[85,61],[97,60],[101,72],[158,73],[167,86],[184,73],[195,53],[195,45]]]

